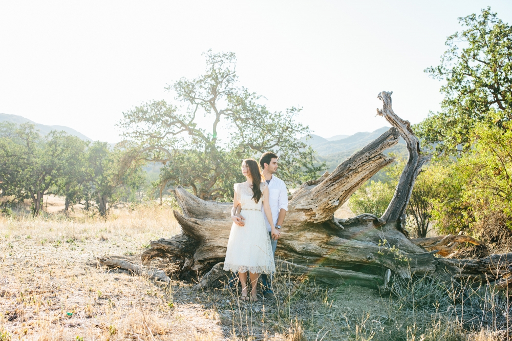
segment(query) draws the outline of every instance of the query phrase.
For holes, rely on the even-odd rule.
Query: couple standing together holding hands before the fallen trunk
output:
[[[263,294],[273,294],[270,275],[275,271],[274,252],[288,210],[286,185],[273,176],[278,170],[278,156],[267,152],[260,158],[260,165],[253,159],[242,162],[242,173],[247,181],[234,185],[233,225],[224,261],[224,270],[238,272],[244,301],[249,300],[249,272],[250,300],[254,302],[258,301],[256,285],[260,273],[263,273]]]

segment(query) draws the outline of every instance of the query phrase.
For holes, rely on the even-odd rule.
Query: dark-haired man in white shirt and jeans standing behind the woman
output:
[[[288,211],[288,192],[286,190],[286,184],[284,181],[274,176],[274,174],[278,172],[278,156],[272,152],[266,152],[260,158],[260,165],[263,169],[263,176],[265,177],[265,181],[268,185],[268,192],[270,197],[268,198],[268,202],[270,204],[270,209],[272,210],[274,226],[276,229],[278,229],[278,231],[280,231],[281,225],[283,225],[285,220],[286,212]],[[263,214],[263,217],[265,219],[265,224],[267,225],[267,230],[270,236],[272,253],[275,253],[275,248],[278,246],[278,238],[281,236],[281,233],[278,234],[278,238],[273,239],[270,223],[268,222],[265,214]],[[232,219],[235,224],[244,226],[244,217],[240,216],[239,210],[237,210],[236,215],[234,215]],[[263,295],[266,297],[272,297],[274,292],[271,288],[271,279],[265,273],[262,273],[261,279],[263,282]]]

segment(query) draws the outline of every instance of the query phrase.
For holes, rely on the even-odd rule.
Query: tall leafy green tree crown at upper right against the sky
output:
[[[503,128],[512,119],[512,27],[490,8],[459,22],[464,30],[447,38],[441,64],[425,70],[444,81],[442,111],[415,127],[424,142],[449,155],[470,148],[477,123]]]

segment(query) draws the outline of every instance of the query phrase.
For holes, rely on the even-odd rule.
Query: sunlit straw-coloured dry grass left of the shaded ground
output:
[[[12,339],[205,339],[219,331],[198,303],[174,305],[173,286],[98,267],[98,255],[136,260],[179,232],[167,207],[99,217],[0,219],[0,336]],[[2,332],[0,332],[2,335]],[[209,335],[209,336],[208,336]]]

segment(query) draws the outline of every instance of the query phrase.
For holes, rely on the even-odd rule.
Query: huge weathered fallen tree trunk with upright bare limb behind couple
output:
[[[330,284],[348,281],[368,287],[387,283],[388,269],[403,278],[413,273],[445,274],[444,270],[449,270],[457,278],[487,274],[500,280],[498,273],[507,271],[506,261],[511,256],[502,255],[501,263],[493,263],[495,259],[454,262],[434,257],[439,249],[427,251],[409,239],[404,212],[416,176],[430,156],[421,153],[410,123],[394,114],[391,93],[382,92],[378,98],[383,102],[378,115],[393,127],[339,164],[331,174],[326,172],[321,178],[304,183],[289,196],[289,210],[276,250],[281,259],[278,266],[285,264],[292,273],[306,273]],[[357,188],[393,162],[394,158],[382,152],[395,145],[400,136],[406,141],[409,159],[383,216],[334,218],[334,212]],[[215,271],[209,270],[224,261],[232,204],[203,201],[181,186],[175,189],[175,197],[182,212],[175,210],[174,215],[182,233],[151,242],[152,248],[142,255],[143,264],[154,257],[167,258],[178,266],[176,274],[182,278],[214,276],[212,273],[218,277],[219,266]],[[201,283],[209,281],[203,279]]]

